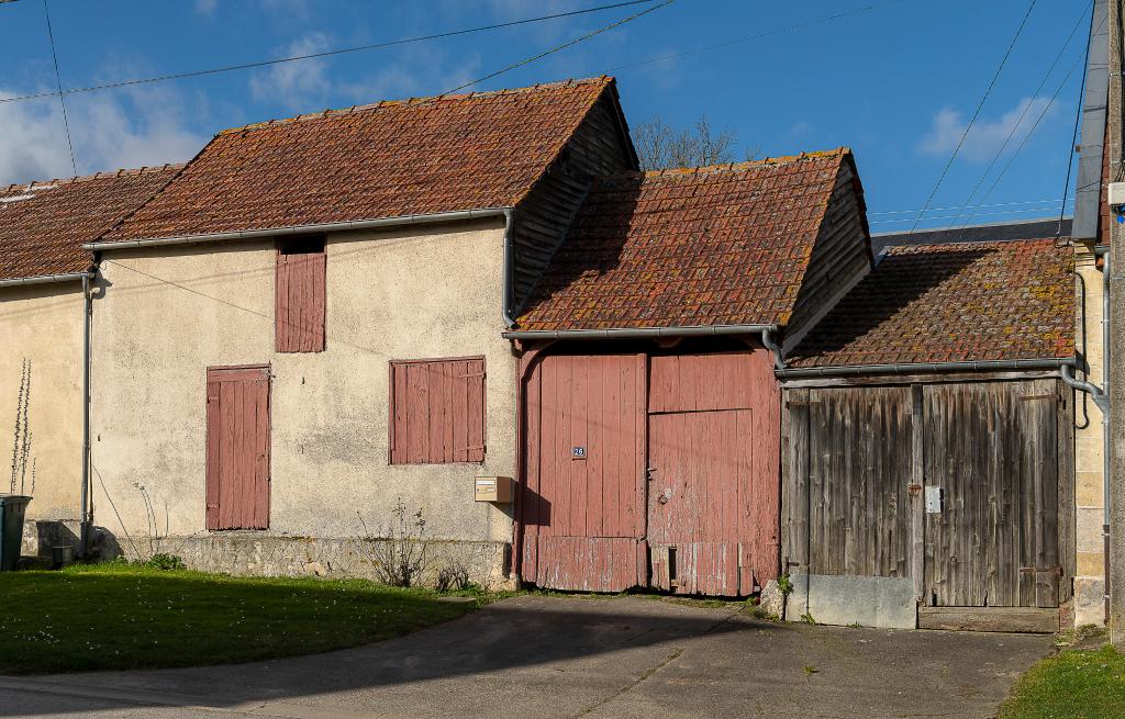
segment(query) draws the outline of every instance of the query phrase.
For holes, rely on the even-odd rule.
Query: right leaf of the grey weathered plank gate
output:
[[[1058,402],[1055,380],[925,388],[927,604],[1059,606]]]

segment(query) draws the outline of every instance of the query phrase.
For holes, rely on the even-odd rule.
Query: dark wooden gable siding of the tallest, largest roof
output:
[[[515,210],[515,306],[526,301],[561,244],[595,175],[636,170],[614,99],[591,109],[558,161]]]

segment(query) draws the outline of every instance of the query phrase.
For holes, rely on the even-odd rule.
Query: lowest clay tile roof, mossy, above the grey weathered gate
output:
[[[1071,357],[1072,267],[1053,238],[891,247],[789,363]]]

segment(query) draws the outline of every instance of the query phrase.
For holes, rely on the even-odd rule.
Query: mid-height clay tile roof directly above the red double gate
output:
[[[594,183],[522,330],[784,324],[850,152]]]

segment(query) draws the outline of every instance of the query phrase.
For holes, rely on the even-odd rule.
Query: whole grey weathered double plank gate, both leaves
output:
[[[790,572],[909,577],[929,607],[1069,598],[1073,502],[1061,480],[1072,425],[1061,382],[848,384],[785,390]]]

